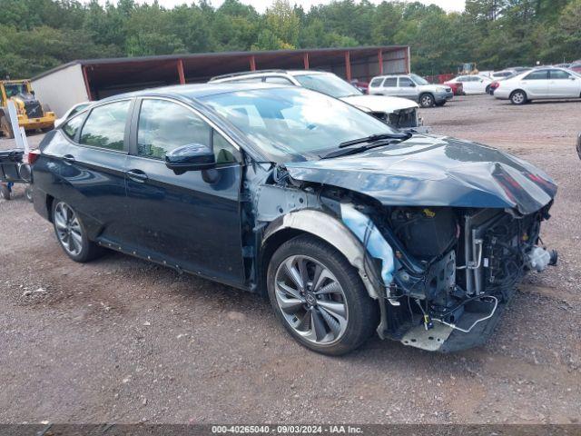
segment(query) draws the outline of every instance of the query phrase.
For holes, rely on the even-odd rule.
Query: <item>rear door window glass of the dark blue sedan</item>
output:
[[[126,100],[95,107],[84,123],[79,143],[122,152],[130,104]]]

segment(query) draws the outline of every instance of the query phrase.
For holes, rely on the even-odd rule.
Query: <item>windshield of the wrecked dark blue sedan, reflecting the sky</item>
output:
[[[341,143],[397,133],[350,104],[300,87],[215,94],[201,100],[277,163],[319,159]]]

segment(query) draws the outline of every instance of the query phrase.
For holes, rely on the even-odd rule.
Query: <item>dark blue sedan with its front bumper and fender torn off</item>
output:
[[[373,332],[430,351],[480,344],[517,282],[556,263],[539,242],[546,173],[299,86],[115,95],[30,161],[34,209],[72,260],[106,247],[267,294],[316,352]]]

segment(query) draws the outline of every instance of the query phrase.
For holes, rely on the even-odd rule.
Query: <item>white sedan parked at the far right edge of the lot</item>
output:
[[[513,104],[531,100],[581,98],[581,75],[566,68],[537,68],[498,82],[494,96]]]

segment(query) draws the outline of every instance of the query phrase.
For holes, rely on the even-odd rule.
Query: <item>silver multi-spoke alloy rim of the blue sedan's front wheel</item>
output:
[[[340,340],[347,330],[347,302],[340,282],[323,263],[290,256],[277,269],[274,286],[276,302],[292,330],[318,345]]]

